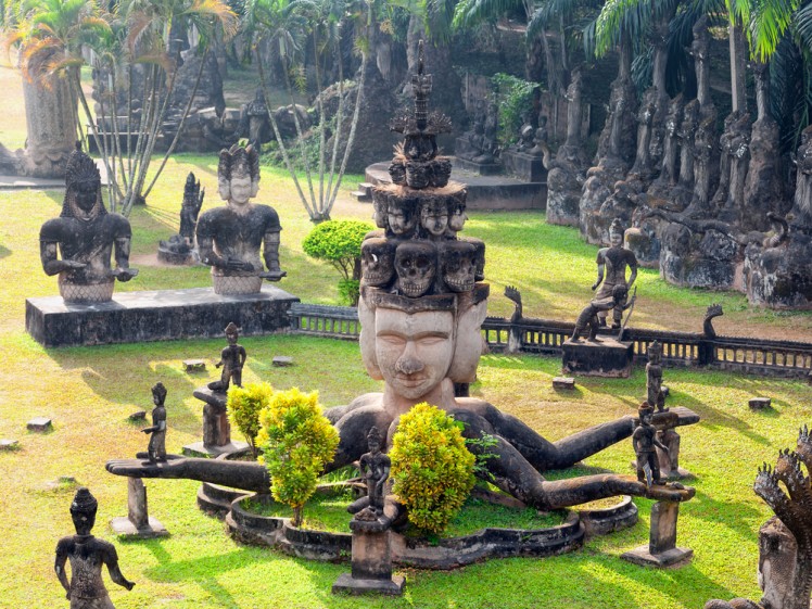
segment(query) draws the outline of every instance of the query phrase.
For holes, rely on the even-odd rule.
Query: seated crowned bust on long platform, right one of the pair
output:
[[[259,190],[259,155],[252,147],[220,152],[217,168],[225,207],[210,210],[198,220],[200,259],[212,267],[218,294],[250,294],[262,289],[263,279],[279,281],[279,216],[268,205],[254,205]],[[265,265],[259,257],[264,245]]]

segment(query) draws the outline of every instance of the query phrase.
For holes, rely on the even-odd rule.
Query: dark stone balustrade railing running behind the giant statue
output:
[[[338,339],[357,339],[360,332],[354,307],[310,305],[291,306],[291,330],[303,334]],[[561,355],[561,345],[570,338],[574,323],[551,319],[521,318],[510,321],[487,317],[482,335],[494,353]],[[635,363],[647,360],[648,345],[662,345],[662,363],[668,367],[711,366],[723,370],[770,377],[812,375],[812,343],[771,341],[735,337],[706,337],[692,332],[667,332],[626,328],[624,340],[634,343]]]

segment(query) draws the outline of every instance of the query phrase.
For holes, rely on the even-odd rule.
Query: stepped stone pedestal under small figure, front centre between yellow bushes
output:
[[[350,529],[353,531],[353,570],[335,581],[332,592],[403,594],[405,578],[392,576],[389,526],[377,520],[353,519]]]

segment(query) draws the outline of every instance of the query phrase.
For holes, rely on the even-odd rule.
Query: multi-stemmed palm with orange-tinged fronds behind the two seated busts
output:
[[[24,0],[21,9],[21,18],[9,42],[21,47],[24,74],[59,76],[68,83],[71,107],[76,107],[78,98],[90,136],[101,151],[111,208],[128,215],[132,205],[149,194],[174,151],[200,81],[201,73],[175,139],[145,188],[147,170],[177,76],[177,61],[169,45],[173,25],[193,27],[200,35],[199,50],[205,52],[217,28],[227,36],[233,34],[237,26],[233,12],[220,0],[122,0],[113,4],[112,12],[103,11],[94,0]],[[131,112],[126,117],[127,124],[122,124],[117,104],[104,97],[99,100],[100,116],[93,116],[80,84],[86,48],[94,51],[94,67],[110,75],[106,84],[110,100],[118,98],[120,87],[126,88],[131,100],[137,67],[142,69],[143,113],[137,124]],[[203,63],[201,72],[202,68]],[[75,110],[74,116],[78,125]],[[128,142],[126,150],[120,144],[123,134]],[[135,148],[129,143],[129,134],[137,134]]]

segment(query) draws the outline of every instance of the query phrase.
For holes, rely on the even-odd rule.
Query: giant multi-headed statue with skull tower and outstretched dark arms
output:
[[[689,499],[690,489],[649,487],[626,475],[598,474],[557,481],[542,477],[548,469],[570,467],[630,437],[634,431],[631,417],[605,422],[551,443],[519,419],[482,399],[455,396],[455,383],[472,382],[477,372],[489,286],[477,280],[483,268],[473,264],[475,252],[482,249],[470,241],[454,239],[447,232],[451,217],[456,215],[464,219],[465,189],[452,182],[436,187],[427,181],[426,176],[444,173],[443,160],[437,158],[435,152],[435,137],[447,122],[437,115],[433,115],[434,119],[429,117],[431,78],[423,74],[422,62],[415,83],[415,113],[393,125],[404,134],[405,141],[393,162],[395,183],[376,193],[376,218],[379,226],[384,226],[368,236],[371,244],[365,246],[367,264],[358,304],[361,356],[370,376],[383,380],[383,393],[365,394],[346,406],[327,410],[326,416],[335,426],[340,443],[326,469],[330,471],[360,459],[368,452],[365,440],[372,427],[380,430],[381,445],[385,445],[384,439],[392,437],[398,417],[416,404],[428,402],[461,421],[467,436],[493,435],[496,445],[492,452],[497,458],[489,461],[489,469],[495,483],[538,509],[619,494],[669,502]],[[401,168],[405,169],[404,176],[401,176]],[[417,201],[421,202],[419,206]],[[456,231],[452,229],[452,232]],[[372,244],[380,249],[370,252]],[[465,250],[464,256],[456,256],[458,248]],[[388,254],[381,256],[381,252]],[[372,263],[381,257],[393,261],[392,266],[373,268]],[[449,261],[460,258],[467,261],[468,268],[465,281],[457,282],[447,267]],[[399,274],[397,259],[403,263]],[[439,269],[433,275],[428,271],[432,267]],[[674,419],[674,424],[697,420],[696,415],[685,409],[668,415]],[[118,475],[190,478],[238,489],[268,490],[266,469],[252,462],[198,458],[169,459],[163,464],[115,460],[107,464],[107,470]]]

